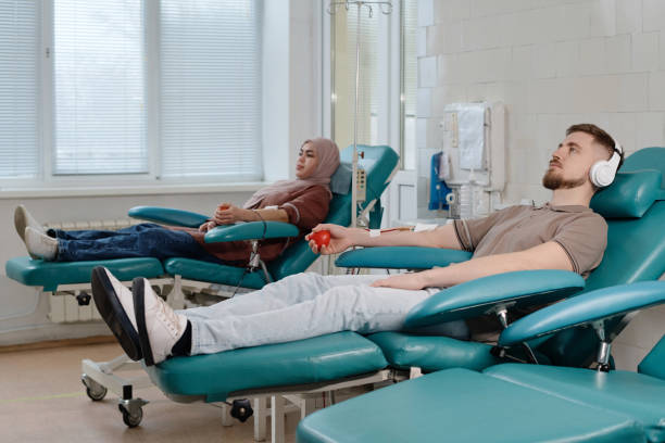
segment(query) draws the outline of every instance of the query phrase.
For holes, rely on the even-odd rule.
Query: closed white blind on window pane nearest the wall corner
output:
[[[260,0],[162,0],[163,177],[262,177]]]

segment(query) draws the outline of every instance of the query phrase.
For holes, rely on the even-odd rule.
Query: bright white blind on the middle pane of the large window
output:
[[[147,173],[143,8],[53,1],[53,174]]]

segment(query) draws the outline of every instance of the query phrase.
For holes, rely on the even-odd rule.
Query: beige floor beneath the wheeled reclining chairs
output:
[[[138,391],[151,403],[143,420],[128,429],[109,393],[90,401],[80,382],[80,360],[109,360],[116,344],[96,344],[0,353],[0,441],[8,442],[252,442],[253,418],[222,427],[222,410],[205,404],[183,405],[156,388]],[[294,441],[298,414],[287,420],[287,442]],[[269,423],[268,423],[269,441]]]

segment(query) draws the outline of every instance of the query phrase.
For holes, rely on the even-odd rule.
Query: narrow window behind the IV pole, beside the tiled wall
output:
[[[376,5],[372,17],[361,10],[357,142],[391,144],[402,168],[415,169],[417,0],[392,4],[389,15]],[[357,9],[340,8],[330,20],[331,131],[343,147],[353,142]]]

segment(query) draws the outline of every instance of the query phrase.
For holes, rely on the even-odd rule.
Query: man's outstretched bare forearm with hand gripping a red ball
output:
[[[369,232],[360,228],[344,228],[339,225],[318,225],[312,232],[319,230],[330,231],[330,244],[318,251],[316,244],[310,241],[310,248],[315,253],[338,254],[351,246],[424,246],[462,249],[452,225],[440,226],[429,231],[389,231],[377,237],[371,237]],[[310,240],[310,236],[305,236]]]

